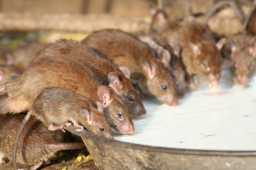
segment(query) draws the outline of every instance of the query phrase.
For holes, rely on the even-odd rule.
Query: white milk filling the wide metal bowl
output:
[[[170,148],[256,150],[255,80],[250,87],[227,88],[224,83],[218,89],[187,92],[178,106],[146,100],[147,114],[136,120],[135,133],[114,138]]]

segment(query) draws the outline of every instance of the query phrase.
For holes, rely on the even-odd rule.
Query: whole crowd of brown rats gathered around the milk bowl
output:
[[[146,114],[142,97],[176,106],[178,97],[197,88],[195,77],[216,86],[223,63],[235,83],[248,84],[256,69],[253,15],[245,26],[250,34],[228,37],[225,45],[194,17],[170,21],[164,9],[150,11],[150,33],[105,29],[81,42],[32,42],[1,51],[0,164],[13,157],[15,169],[16,161],[37,169],[60,149],[83,148],[56,139],[55,130],[65,132],[71,123],[110,139],[110,128],[131,134],[132,119]],[[28,131],[29,146],[23,140]]]

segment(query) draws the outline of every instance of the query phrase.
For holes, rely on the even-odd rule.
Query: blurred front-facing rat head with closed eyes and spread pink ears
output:
[[[192,64],[194,68],[200,74],[208,76],[209,81],[213,84],[217,84],[220,80],[220,49],[224,43],[224,38],[221,38],[216,44],[212,41],[201,41],[198,44],[188,41],[188,45],[193,52]]]

